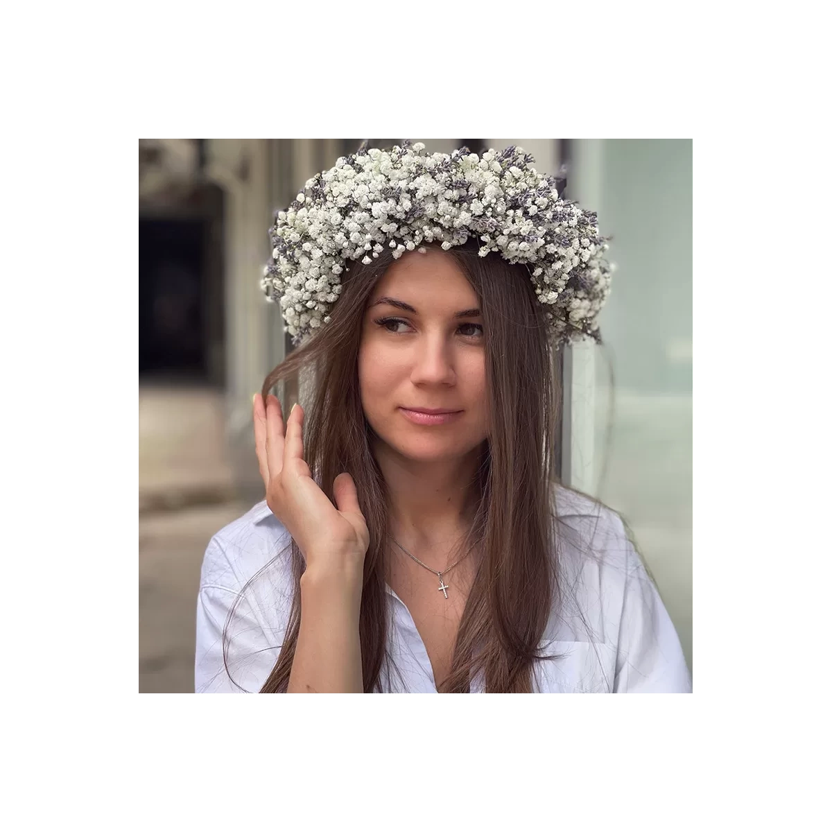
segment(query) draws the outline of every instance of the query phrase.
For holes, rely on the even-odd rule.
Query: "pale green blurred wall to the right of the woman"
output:
[[[630,522],[692,666],[692,142],[608,139],[597,150],[598,202],[587,207],[614,237],[618,270],[596,354],[596,490]]]

